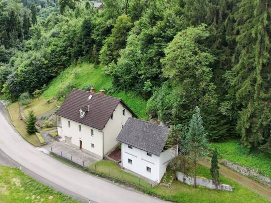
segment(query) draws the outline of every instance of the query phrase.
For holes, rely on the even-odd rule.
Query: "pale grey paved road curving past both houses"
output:
[[[13,130],[2,111],[0,111],[0,150],[19,163],[26,173],[39,177],[38,180],[42,180],[42,183],[52,185],[57,190],[80,200],[91,200],[96,203],[164,202],[90,176],[45,155],[25,142]]]

